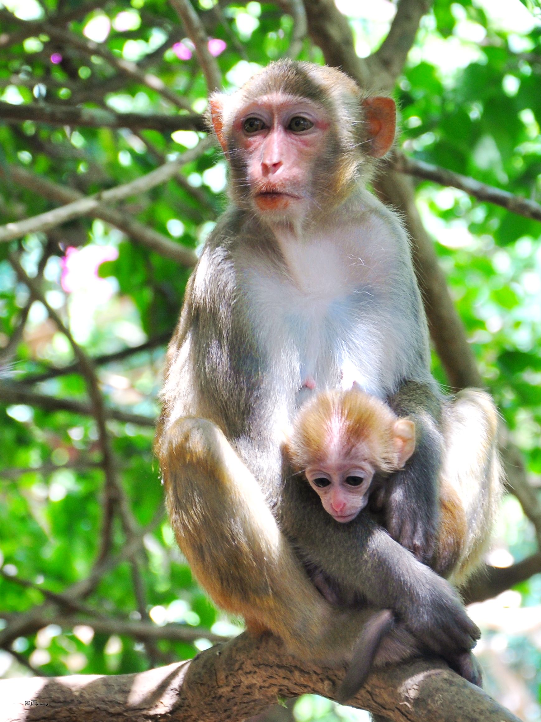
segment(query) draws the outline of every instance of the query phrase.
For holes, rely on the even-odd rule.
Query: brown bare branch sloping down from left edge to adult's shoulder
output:
[[[2,173],[3,169],[0,166],[0,175],[2,175]],[[79,193],[79,191],[76,191],[74,188],[61,186],[60,183],[49,181],[48,178],[34,175],[28,170],[17,168],[17,166],[14,165],[6,168],[6,178],[10,178],[15,181],[15,183],[18,183],[19,186],[28,188],[30,191],[36,191],[40,196],[45,196],[45,198],[57,201],[58,203],[70,204],[86,198],[83,193]],[[101,218],[126,233],[129,238],[135,240],[137,243],[145,245],[146,248],[150,248],[151,251],[159,253],[160,256],[171,258],[172,261],[176,261],[178,264],[182,264],[182,266],[188,266],[188,268],[190,268],[194,266],[197,261],[197,256],[195,256],[195,253],[193,253],[190,248],[186,248],[180,243],[175,243],[167,238],[166,235],[138,222],[124,211],[99,203],[94,206],[87,215],[94,218]]]

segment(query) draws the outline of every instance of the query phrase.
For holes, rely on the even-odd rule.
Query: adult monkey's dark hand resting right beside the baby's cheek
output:
[[[392,539],[428,564],[436,548],[438,512],[428,494],[415,489],[413,479],[398,472],[371,499],[371,508],[384,510],[385,526]]]

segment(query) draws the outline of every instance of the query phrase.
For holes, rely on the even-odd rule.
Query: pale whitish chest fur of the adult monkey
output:
[[[397,294],[410,269],[409,258],[403,268],[405,238],[397,243],[368,214],[310,238],[283,232],[277,243],[280,268],[264,256],[241,261],[249,313],[277,383],[298,389],[312,376],[325,388],[356,380],[384,396],[402,373],[396,329],[413,323]]]

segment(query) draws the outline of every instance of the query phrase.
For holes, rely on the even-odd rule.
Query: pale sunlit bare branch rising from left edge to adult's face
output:
[[[193,150],[188,150],[182,153],[177,160],[172,160],[165,165],[151,170],[146,175],[141,175],[130,183],[124,183],[122,186],[116,186],[115,188],[109,188],[107,191],[100,191],[94,193],[92,196],[84,196],[78,201],[72,201],[66,206],[61,206],[52,211],[40,213],[32,218],[27,218],[23,221],[7,223],[4,226],[0,226],[0,242],[13,240],[14,238],[20,238],[27,233],[35,231],[45,231],[49,228],[54,228],[62,223],[66,223],[74,218],[87,215],[89,213],[95,213],[100,203],[110,201],[112,203],[121,201],[128,196],[136,196],[138,193],[145,193],[154,186],[159,186],[161,183],[165,183],[177,173],[182,165],[185,165],[195,158],[199,157],[211,147],[212,140],[210,138],[203,139]]]

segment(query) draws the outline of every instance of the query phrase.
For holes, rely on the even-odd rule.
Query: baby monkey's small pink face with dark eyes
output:
[[[340,523],[352,521],[369,500],[374,471],[368,464],[337,469],[336,466],[306,469],[308,483],[323,508]]]

